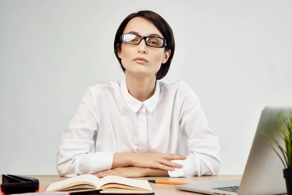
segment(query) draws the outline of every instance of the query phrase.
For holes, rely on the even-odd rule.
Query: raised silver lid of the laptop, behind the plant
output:
[[[286,193],[283,177],[284,165],[274,150],[264,140],[261,131],[274,137],[278,130],[277,118],[289,115],[288,107],[265,107],[256,130],[256,135],[241,179],[238,195],[275,195]],[[281,138],[280,145],[284,146]],[[278,149],[275,147],[278,151]]]

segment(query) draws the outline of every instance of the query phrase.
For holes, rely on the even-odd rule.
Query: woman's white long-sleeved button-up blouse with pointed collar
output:
[[[95,152],[91,152],[94,147]],[[217,135],[210,130],[200,99],[184,82],[156,81],[154,95],[133,98],[126,81],[89,86],[63,132],[57,152],[60,176],[109,170],[113,154],[172,153],[183,165],[171,177],[218,175],[221,159]]]

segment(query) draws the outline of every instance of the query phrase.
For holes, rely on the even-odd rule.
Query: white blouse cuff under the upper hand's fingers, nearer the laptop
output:
[[[171,160],[174,163],[182,164],[182,168],[174,168],[174,171],[167,171],[170,177],[190,177],[195,176],[191,159],[187,156],[185,160]]]

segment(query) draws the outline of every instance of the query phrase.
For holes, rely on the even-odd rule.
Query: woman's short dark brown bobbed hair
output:
[[[122,46],[120,38],[121,38],[121,35],[123,34],[128,22],[135,17],[141,17],[141,18],[144,18],[146,20],[151,21],[156,26],[156,28],[162,33],[164,39],[166,40],[166,47],[164,47],[165,51],[168,51],[169,49],[171,51],[169,58],[167,59],[167,61],[164,64],[161,65],[159,71],[156,74],[157,80],[162,79],[166,76],[166,74],[169,70],[170,63],[171,63],[171,60],[172,60],[173,55],[174,55],[175,42],[174,42],[173,32],[172,32],[172,29],[169,26],[169,24],[159,14],[157,14],[153,11],[143,10],[143,11],[139,11],[137,13],[132,13],[132,14],[128,15],[127,18],[125,18],[122,21],[122,23],[120,24],[120,26],[116,32],[115,38],[114,38],[113,46],[114,46],[115,56],[118,59],[120,65],[121,65],[121,68],[125,73],[126,69],[122,65],[122,59],[120,59],[118,56],[118,52],[121,51],[121,46]],[[117,46],[117,44],[119,44],[119,45]]]

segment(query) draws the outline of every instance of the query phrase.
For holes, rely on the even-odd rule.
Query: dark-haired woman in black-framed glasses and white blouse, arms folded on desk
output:
[[[199,98],[183,81],[159,81],[174,50],[172,30],[158,14],[140,11],[123,20],[114,52],[125,80],[87,88],[59,143],[60,176],[218,174],[218,137]]]

